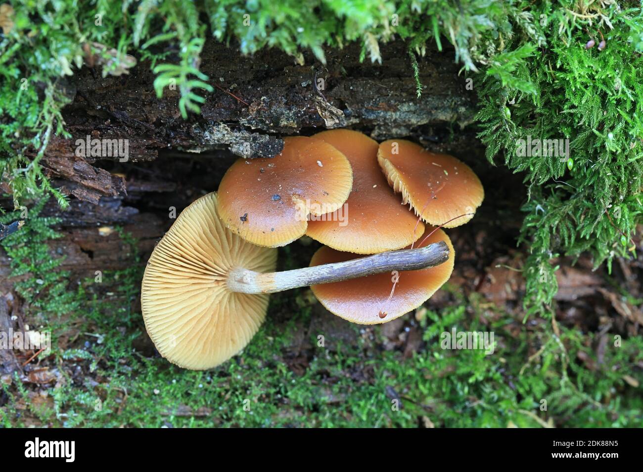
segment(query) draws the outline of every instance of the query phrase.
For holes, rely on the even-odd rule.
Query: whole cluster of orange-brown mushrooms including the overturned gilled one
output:
[[[170,362],[203,370],[239,353],[269,293],[311,286],[335,315],[379,324],[449,279],[455,252],[438,225],[468,221],[484,198],[466,164],[352,130],[284,141],[274,158],[235,162],[152,252],[141,310]],[[324,244],[310,267],[273,272],[276,247],[304,234]]]

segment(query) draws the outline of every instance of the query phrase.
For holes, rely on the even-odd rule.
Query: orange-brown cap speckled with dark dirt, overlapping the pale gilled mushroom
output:
[[[287,137],[272,159],[239,159],[219,185],[219,215],[246,241],[284,246],[305,234],[309,214],[338,209],[349,198],[352,171],[331,144]]]

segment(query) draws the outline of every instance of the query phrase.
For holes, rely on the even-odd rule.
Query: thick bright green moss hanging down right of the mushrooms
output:
[[[547,311],[557,290],[550,260],[558,253],[587,251],[596,267],[611,265],[615,256],[635,256],[631,236],[642,222],[641,10],[626,2],[561,4],[532,5],[531,19],[516,25],[478,89],[489,160],[503,155],[529,186],[521,236],[530,252],[528,313]],[[603,51],[585,48],[601,34]],[[570,159],[520,155],[518,140],[529,135],[568,139]]]

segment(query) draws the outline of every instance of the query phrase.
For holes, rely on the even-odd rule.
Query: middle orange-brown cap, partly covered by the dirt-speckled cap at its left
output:
[[[352,130],[323,131],[313,138],[332,144],[349,159],[353,189],[341,209],[311,217],[308,236],[356,254],[401,249],[421,236],[424,223],[401,204],[377,165],[376,141]]]

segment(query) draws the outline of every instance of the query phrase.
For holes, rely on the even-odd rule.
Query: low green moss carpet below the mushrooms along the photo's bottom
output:
[[[293,322],[301,319],[294,315]],[[116,328],[123,323],[111,317],[111,329],[107,324],[96,328],[113,342],[91,348],[91,357],[100,358],[96,374],[109,381],[97,386],[69,381],[50,390],[53,410],[34,406],[32,414],[59,426],[413,427],[423,416],[451,427],[538,427],[550,419],[556,426],[640,426],[638,389],[623,380],[626,374],[643,380],[634,367],[642,360],[640,338],[608,348],[602,367],[590,371],[574,362],[579,353],[593,353],[573,330],[563,330],[560,339],[547,329],[530,335],[541,338],[543,347],[538,358],[525,363],[533,341],[525,334],[510,335],[505,327],[514,320],[493,324],[502,345],[487,356],[440,349],[440,330],[485,329],[466,317],[464,308],[441,317],[430,312],[429,319],[427,349],[410,359],[399,352],[379,353],[367,342],[341,345],[336,352],[318,348],[297,376],[282,360],[291,330],[284,332],[271,320],[242,358],[212,372],[189,372],[132,353],[132,337],[120,335]],[[379,337],[379,328],[375,332]],[[92,361],[82,360],[86,356],[73,353],[75,363],[87,368]],[[372,374],[360,374],[368,369]],[[26,392],[11,395],[30,404]],[[401,401],[399,410],[395,398]],[[206,409],[201,410],[205,417],[198,415],[199,408]],[[6,425],[21,424],[10,408],[4,415]]]

